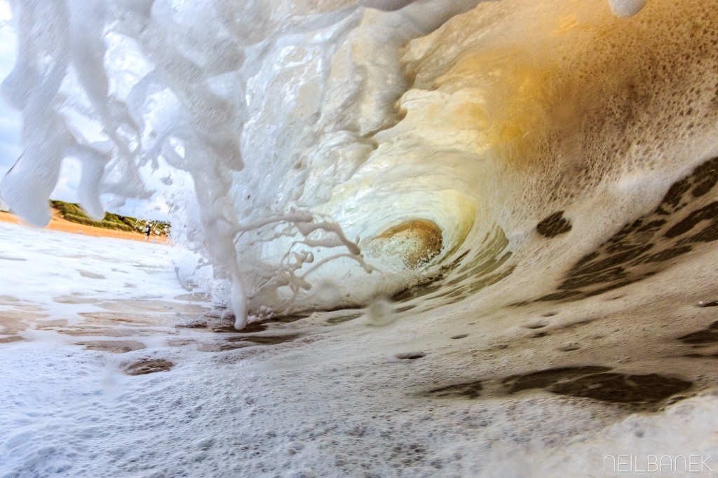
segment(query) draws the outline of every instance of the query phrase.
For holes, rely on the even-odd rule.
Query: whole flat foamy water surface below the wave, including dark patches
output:
[[[717,468],[714,350],[675,340],[711,320],[715,252],[623,299],[236,331],[180,287],[171,247],[0,224],[0,250],[3,478]]]

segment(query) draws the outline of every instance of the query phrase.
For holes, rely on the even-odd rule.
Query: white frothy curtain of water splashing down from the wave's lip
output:
[[[201,209],[193,227],[202,229],[202,241],[195,247],[206,248],[220,275],[233,280],[230,302],[239,325],[246,321],[247,298],[286,267],[257,270],[256,240],[243,244],[237,235],[268,216],[311,216],[308,208],[374,148],[360,130],[396,123],[393,102],[409,86],[401,77],[401,47],[478,1],[412,3],[14,1],[19,61],[3,92],[24,113],[24,153],[2,182],[4,197],[25,219],[43,225],[66,156],[83,163],[78,196],[92,216],[102,214],[103,193],[113,204],[147,199],[152,191],[139,169],[148,162],[189,171]],[[373,19],[365,19],[366,7],[376,12],[369,14]],[[371,79],[351,79],[360,81],[349,95],[343,87],[332,91],[338,86],[327,75],[332,57],[363,21],[389,41],[371,48],[388,63],[371,68]],[[367,89],[370,81],[378,81],[376,90]],[[363,105],[371,111],[332,119]],[[359,123],[363,128],[355,130]],[[340,160],[335,171],[323,174],[334,158]],[[320,182],[312,173],[322,173]],[[245,197],[245,191],[251,192]],[[268,230],[269,239],[261,240],[301,234],[305,221],[294,229],[291,221],[258,226]],[[336,235],[339,226],[309,229],[314,247],[335,247],[325,236]],[[340,241],[349,251],[342,257],[357,259],[356,244]]]

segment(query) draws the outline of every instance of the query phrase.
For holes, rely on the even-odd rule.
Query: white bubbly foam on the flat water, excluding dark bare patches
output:
[[[531,370],[547,360],[551,350],[505,350],[501,360],[472,365],[476,350],[488,355],[488,344],[506,340],[506,325],[531,317],[521,310],[477,326],[467,324],[477,320],[472,307],[386,320],[393,305],[383,302],[365,320],[338,329],[309,320],[284,330],[306,338],[219,353],[201,352],[197,344],[225,334],[145,328],[121,340],[146,348],[113,354],[73,343],[117,337],[33,329],[96,310],[52,302],[54,294],[134,300],[140,308],[172,301],[185,291],[174,279],[167,249],[0,224],[0,264],[9,272],[0,284],[2,300],[11,295],[47,315],[20,332],[30,341],[0,344],[0,476],[595,477],[602,476],[607,455],[638,455],[641,469],[654,454],[712,455],[709,466],[716,462],[718,397],[712,393],[658,414],[632,416],[545,392],[475,400],[422,396],[427,389],[490,378],[517,365]],[[714,264],[717,257],[698,259]],[[695,271],[692,266],[679,270],[675,277],[690,278],[676,292],[709,290],[716,269],[705,269],[705,278],[681,275]],[[106,279],[81,276],[80,270]],[[123,282],[136,287],[123,288]],[[660,296],[635,295],[645,303]],[[600,305],[602,314],[623,311],[615,301]],[[675,311],[671,302],[667,320]],[[561,315],[586,316],[582,310]],[[123,330],[119,323],[114,327]],[[449,339],[458,332],[470,338]],[[169,346],[173,342],[185,345]],[[419,352],[425,356],[396,358]],[[175,365],[146,376],[122,373],[142,358]]]

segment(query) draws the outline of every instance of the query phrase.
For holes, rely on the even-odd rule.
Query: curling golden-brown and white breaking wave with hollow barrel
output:
[[[705,1],[12,6],[5,201],[47,224],[67,156],[95,217],[151,196],[141,168],[187,171],[173,234],[206,262],[178,275],[211,264],[238,328],[378,297],[572,300],[718,239],[696,229],[718,220]]]

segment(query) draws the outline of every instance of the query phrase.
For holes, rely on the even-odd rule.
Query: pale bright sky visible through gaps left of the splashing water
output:
[[[4,80],[12,71],[17,59],[17,41],[12,21],[12,11],[7,0],[0,0],[0,81]],[[0,178],[5,176],[7,171],[19,158],[22,153],[22,114],[10,107],[0,95]],[[52,191],[50,199],[60,201],[78,202],[77,188],[80,183],[82,167],[80,161],[74,158],[66,158],[62,161],[60,179],[57,181],[55,191]],[[164,191],[159,176],[172,175],[168,171],[152,173],[148,171],[149,187],[156,187],[157,194],[147,201],[128,200],[124,206],[109,207],[111,212],[135,216],[142,219],[169,219],[167,205],[167,194]],[[157,177],[154,177],[157,176]],[[106,199],[108,202],[108,198]]]

